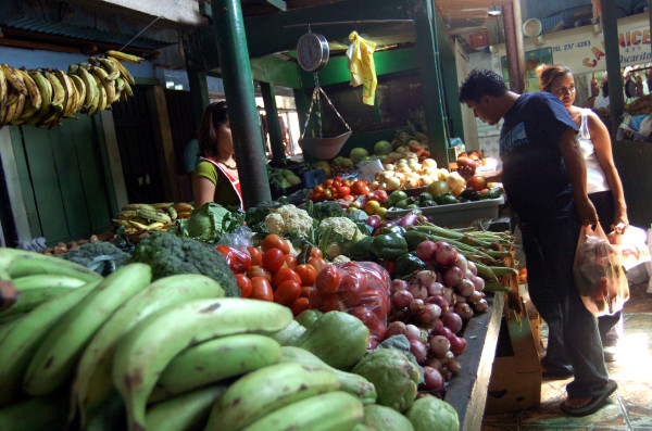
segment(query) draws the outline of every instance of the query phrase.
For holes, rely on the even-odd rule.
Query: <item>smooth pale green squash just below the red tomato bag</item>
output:
[[[312,352],[334,368],[349,370],[366,353],[369,329],[355,316],[328,312],[299,339],[296,346]]]

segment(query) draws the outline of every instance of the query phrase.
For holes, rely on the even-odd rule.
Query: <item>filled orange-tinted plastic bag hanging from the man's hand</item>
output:
[[[584,226],[577,243],[573,276],[581,301],[594,316],[613,315],[629,299],[629,286],[618,248],[602,227]]]

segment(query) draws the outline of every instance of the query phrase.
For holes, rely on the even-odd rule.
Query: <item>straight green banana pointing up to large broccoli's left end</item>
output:
[[[109,317],[148,286],[152,269],[129,264],[104,278],[93,291],[67,313],[48,333],[27,367],[23,390],[30,395],[54,392],[74,373],[75,365]]]

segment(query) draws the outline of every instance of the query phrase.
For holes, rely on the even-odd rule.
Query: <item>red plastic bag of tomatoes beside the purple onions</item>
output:
[[[321,279],[335,279],[338,286],[327,287]],[[368,347],[375,348],[387,331],[387,318],[391,308],[390,282],[387,269],[375,262],[328,265],[317,276],[316,290],[310,299],[311,307],[324,313],[347,312],[358,317],[369,328]]]

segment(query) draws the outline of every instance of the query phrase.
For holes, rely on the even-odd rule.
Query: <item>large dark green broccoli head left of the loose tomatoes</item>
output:
[[[129,259],[133,262],[151,266],[153,280],[177,274],[202,274],[217,281],[226,296],[240,296],[236,278],[222,253],[190,238],[152,233],[136,245]]]

